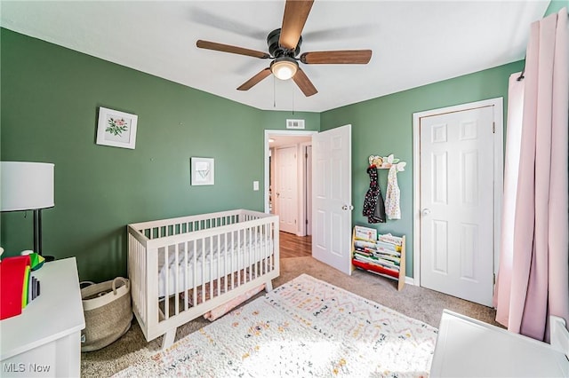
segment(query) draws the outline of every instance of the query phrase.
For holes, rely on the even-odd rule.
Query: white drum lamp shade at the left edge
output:
[[[55,206],[54,164],[28,161],[1,161],[0,164],[0,210],[33,210]]]

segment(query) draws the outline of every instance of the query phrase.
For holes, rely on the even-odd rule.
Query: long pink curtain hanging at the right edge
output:
[[[538,340],[547,339],[549,315],[569,324],[567,34],[566,8],[531,25],[515,215],[502,224],[513,226],[513,244],[501,251],[494,298],[497,321]],[[508,245],[511,236],[501,237]]]

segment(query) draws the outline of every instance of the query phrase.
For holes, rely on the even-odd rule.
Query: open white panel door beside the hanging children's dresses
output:
[[[312,137],[312,256],[351,274],[351,125]]]

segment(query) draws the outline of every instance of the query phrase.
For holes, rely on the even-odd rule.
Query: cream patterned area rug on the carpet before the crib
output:
[[[437,328],[307,274],[116,374],[426,377]]]

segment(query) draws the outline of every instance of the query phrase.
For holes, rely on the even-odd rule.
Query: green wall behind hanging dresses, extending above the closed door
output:
[[[519,61],[321,114],[321,130],[347,123],[352,125],[353,223],[373,226],[382,233],[406,235],[407,276],[413,277],[413,113],[503,97],[506,114],[509,75],[522,68],[523,61]],[[385,224],[367,224],[367,218],[362,216],[364,197],[369,188],[367,158],[371,154],[394,154],[401,161],[407,162],[405,171],[397,174],[401,190],[399,220],[388,220]],[[387,169],[380,170],[381,192],[384,196],[387,175]]]

